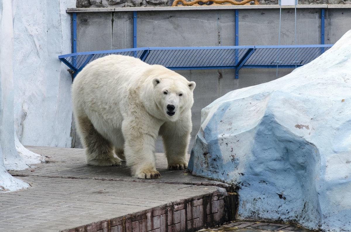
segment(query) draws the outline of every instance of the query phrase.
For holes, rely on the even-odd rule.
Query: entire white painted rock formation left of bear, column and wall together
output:
[[[72,79],[57,56],[71,52],[74,4],[0,0],[0,193],[29,187],[6,170],[42,159],[21,142],[71,147]]]

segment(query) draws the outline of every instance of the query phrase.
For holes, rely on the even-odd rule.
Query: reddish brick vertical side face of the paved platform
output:
[[[197,231],[234,220],[235,195],[214,192],[62,232]],[[234,205],[233,205],[234,204]]]

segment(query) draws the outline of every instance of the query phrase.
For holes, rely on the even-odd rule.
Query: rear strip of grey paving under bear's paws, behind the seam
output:
[[[122,162],[121,166],[90,166],[85,164],[84,149],[52,148],[27,146],[37,154],[43,155],[44,163],[35,164],[32,168],[10,172],[17,176],[41,176],[59,178],[100,179],[131,182],[153,182],[169,184],[215,185],[229,187],[230,185],[192,176],[186,171],[167,170],[167,160],[163,153],[156,153],[156,168],[161,174],[160,179],[142,180],[131,177],[130,169]],[[188,157],[189,158],[189,157]]]

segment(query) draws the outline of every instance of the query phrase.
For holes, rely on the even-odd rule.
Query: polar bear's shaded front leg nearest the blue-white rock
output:
[[[191,115],[185,115],[176,122],[166,122],[160,128],[160,135],[170,170],[187,169],[187,151],[192,128]]]

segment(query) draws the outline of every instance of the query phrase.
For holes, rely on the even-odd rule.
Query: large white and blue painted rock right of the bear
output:
[[[351,30],[277,80],[201,113],[188,169],[238,187],[238,219],[351,230]]]

